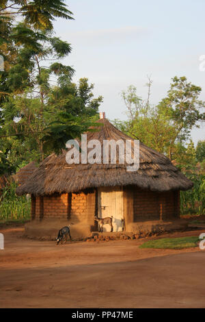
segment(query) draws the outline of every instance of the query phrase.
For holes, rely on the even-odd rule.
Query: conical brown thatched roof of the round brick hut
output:
[[[116,129],[107,119],[100,119],[98,132],[87,132],[87,141],[133,140]],[[52,154],[33,172],[29,180],[16,189],[18,195],[51,195],[53,193],[79,192],[100,186],[135,185],[153,191],[187,190],[193,183],[163,156],[140,143],[140,165],[135,172],[126,171],[127,164],[68,164],[66,151]]]

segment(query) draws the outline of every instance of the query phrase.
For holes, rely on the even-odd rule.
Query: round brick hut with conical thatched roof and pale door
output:
[[[105,140],[129,140],[133,149],[133,138],[105,118],[98,123],[96,132],[86,133],[87,147],[90,140],[98,140],[103,152]],[[111,158],[106,164],[99,158],[94,164],[68,164],[68,151],[47,157],[16,189],[17,195],[31,195],[32,221],[25,225],[25,235],[52,240],[61,227],[72,223],[72,238],[86,238],[98,232],[96,216],[112,217],[109,234],[182,229],[180,190],[188,190],[193,183],[168,158],[143,143],[139,143],[137,171],[127,171],[130,164],[120,163],[120,150],[116,151],[115,164]],[[110,231],[109,225],[103,225],[105,234]]]

